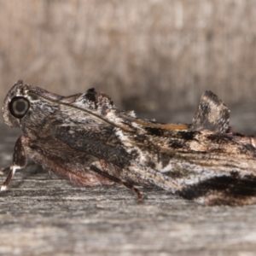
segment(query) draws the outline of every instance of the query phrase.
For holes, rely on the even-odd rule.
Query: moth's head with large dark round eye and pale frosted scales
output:
[[[20,126],[20,119],[26,116],[30,102],[26,97],[29,85],[18,81],[10,90],[4,100],[3,120],[10,127]]]

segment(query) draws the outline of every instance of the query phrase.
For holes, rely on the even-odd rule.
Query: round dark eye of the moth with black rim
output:
[[[29,102],[24,97],[15,97],[9,102],[9,112],[17,119],[25,116],[29,108]]]

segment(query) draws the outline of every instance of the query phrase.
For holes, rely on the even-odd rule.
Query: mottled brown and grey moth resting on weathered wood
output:
[[[158,186],[205,205],[255,202],[256,138],[230,128],[230,110],[211,91],[188,125],[138,119],[94,89],[59,96],[18,81],[7,94],[3,120],[20,127],[7,189],[27,159],[84,186]]]

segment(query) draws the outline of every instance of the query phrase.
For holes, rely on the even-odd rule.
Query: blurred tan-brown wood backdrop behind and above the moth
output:
[[[0,0],[0,100],[23,79],[165,120],[204,90],[255,107],[255,25],[254,0]]]

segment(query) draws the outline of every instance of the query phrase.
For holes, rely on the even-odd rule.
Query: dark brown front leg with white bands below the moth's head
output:
[[[22,169],[26,166],[26,152],[25,152],[25,148],[23,147],[23,142],[25,139],[26,137],[20,136],[17,142],[15,143],[13,165],[4,169],[4,171],[9,169],[10,172],[5,182],[1,186],[0,191],[6,190],[8,188],[9,183],[12,177],[14,177],[16,170]]]

